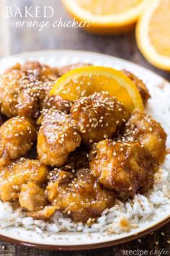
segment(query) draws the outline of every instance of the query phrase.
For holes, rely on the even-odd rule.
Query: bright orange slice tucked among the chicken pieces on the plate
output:
[[[50,94],[75,101],[80,97],[102,91],[115,96],[129,111],[144,109],[140,93],[132,80],[122,72],[109,67],[73,69],[57,80]]]

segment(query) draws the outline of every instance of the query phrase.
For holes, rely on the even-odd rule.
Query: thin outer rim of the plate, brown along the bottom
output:
[[[64,49],[64,48],[60,48],[60,49],[42,49],[40,51],[24,51],[22,53],[19,54],[11,54],[9,56],[4,56],[0,58],[0,62],[3,59],[10,59],[12,57],[17,58],[17,57],[21,57],[26,59],[27,56],[33,56],[35,54],[36,55],[42,55],[43,53],[77,53],[77,54],[92,54],[92,55],[97,55],[97,56],[103,56],[103,57],[108,57],[109,59],[115,59],[117,61],[123,61],[124,63],[133,65],[134,67],[137,67],[138,69],[143,69],[143,72],[146,70],[146,72],[149,72],[150,74],[153,74],[155,77],[158,77],[159,79],[163,80],[164,82],[168,82],[168,80],[166,80],[164,77],[161,77],[160,74],[156,74],[156,72],[153,72],[150,69],[147,69],[146,67],[140,66],[139,64],[135,64],[132,61],[128,61],[126,59],[122,59],[119,58],[117,56],[112,56],[109,54],[101,54],[98,53],[97,51],[81,51],[81,50],[76,50],[76,49]],[[17,244],[19,246],[26,246],[26,247],[30,247],[30,248],[35,248],[35,249],[50,249],[50,250],[58,250],[58,251],[76,251],[76,250],[85,250],[85,249],[97,249],[97,248],[104,248],[104,247],[109,247],[109,246],[114,246],[117,244],[122,244],[125,242],[130,242],[133,239],[138,239],[141,236],[145,236],[153,231],[156,231],[157,229],[160,229],[162,226],[166,225],[166,223],[170,222],[170,217],[169,215],[167,215],[163,220],[161,220],[161,222],[158,223],[153,223],[152,226],[150,226],[148,229],[146,228],[143,231],[139,231],[137,234],[132,234],[130,236],[126,236],[126,237],[122,237],[120,239],[116,239],[116,240],[110,240],[107,242],[98,242],[98,243],[94,243],[94,244],[76,244],[76,245],[55,245],[55,244],[39,244],[39,243],[33,243],[33,242],[24,242],[21,241],[19,239],[12,239],[12,237],[9,236],[5,236],[5,235],[1,235],[0,234],[0,239],[2,239],[5,242],[11,242],[13,244]]]

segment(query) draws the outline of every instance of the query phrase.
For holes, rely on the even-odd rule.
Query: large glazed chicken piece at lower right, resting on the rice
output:
[[[101,184],[123,199],[153,186],[153,171],[139,142],[98,142],[91,150],[89,168]]]

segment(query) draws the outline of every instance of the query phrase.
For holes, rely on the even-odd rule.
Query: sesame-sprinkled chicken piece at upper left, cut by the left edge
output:
[[[20,64],[0,76],[0,108],[6,116],[36,116],[40,84],[34,71],[22,70]]]

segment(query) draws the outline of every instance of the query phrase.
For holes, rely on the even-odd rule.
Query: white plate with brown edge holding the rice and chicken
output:
[[[146,82],[148,90],[151,93],[151,100],[149,100],[147,111],[154,119],[160,121],[161,125],[166,130],[166,133],[169,135],[167,139],[167,147],[170,148],[170,85],[162,77],[148,69],[139,67],[138,65],[123,59],[87,51],[68,50],[35,51],[9,56],[0,60],[0,72],[4,72],[6,68],[11,67],[16,62],[24,63],[24,61],[27,60],[40,61],[55,67],[75,64],[77,62],[86,62],[97,66],[130,70]],[[102,234],[94,233],[89,236],[88,234],[82,233],[52,234],[48,231],[45,231],[42,234],[37,234],[34,231],[27,231],[21,227],[9,227],[7,229],[0,229],[0,236],[1,239],[9,242],[47,249],[70,250],[104,247],[127,242],[130,239],[135,239],[144,234],[148,234],[150,231],[158,229],[158,227],[169,221],[169,206],[170,205],[166,205],[166,207],[160,211],[159,216],[153,217],[152,221],[142,223],[138,229],[133,229],[129,233],[124,234],[102,236]]]

